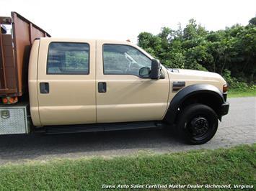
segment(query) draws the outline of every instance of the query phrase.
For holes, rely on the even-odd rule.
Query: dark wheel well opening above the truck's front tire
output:
[[[179,113],[187,106],[193,103],[201,103],[215,111],[219,119],[221,120],[221,100],[218,96],[211,94],[211,93],[197,93],[194,95],[190,95],[188,98],[183,101],[179,106]],[[178,115],[177,115],[178,116]],[[177,121],[177,116],[175,118],[175,122]]]

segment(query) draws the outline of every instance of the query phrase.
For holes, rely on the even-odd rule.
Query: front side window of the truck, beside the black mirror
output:
[[[103,45],[105,75],[138,75],[141,67],[151,68],[151,60],[128,45]]]

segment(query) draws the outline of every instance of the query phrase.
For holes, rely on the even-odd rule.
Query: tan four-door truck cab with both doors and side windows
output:
[[[158,121],[167,111],[167,70],[159,80],[141,78],[153,58],[131,42],[41,38],[31,55],[36,126]]]

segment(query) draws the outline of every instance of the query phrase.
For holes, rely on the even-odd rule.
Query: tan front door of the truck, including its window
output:
[[[97,122],[161,120],[167,110],[169,78],[138,76],[151,58],[133,45],[97,41]]]

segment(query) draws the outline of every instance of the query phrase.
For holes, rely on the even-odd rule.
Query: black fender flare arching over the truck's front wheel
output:
[[[191,95],[196,95],[200,93],[209,93],[216,98],[219,99],[220,106],[222,103],[225,103],[224,97],[221,94],[221,91],[213,85],[209,84],[194,84],[189,85],[185,88],[182,88],[173,98],[171,103],[169,103],[169,107],[167,109],[167,113],[164,116],[164,121],[167,121],[168,124],[174,124],[175,118],[179,112],[179,108],[182,103],[189,98]]]

